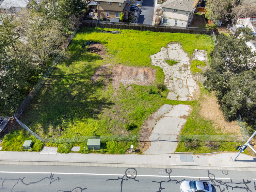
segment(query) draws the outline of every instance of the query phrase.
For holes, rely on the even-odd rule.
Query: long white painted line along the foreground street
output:
[[[102,175],[102,176],[123,176],[123,174],[105,174],[105,173],[63,173],[63,172],[25,172],[25,171],[0,171],[0,173],[25,173],[25,174],[61,174],[61,175]],[[129,175],[128,175],[129,176]],[[137,175],[137,177],[169,177],[169,175]],[[201,178],[209,179],[209,177],[193,177],[193,176],[174,176],[170,175],[171,178]],[[211,178],[213,179],[213,178]],[[216,177],[215,179],[229,179]],[[256,179],[255,179],[256,180]]]

